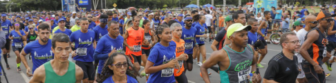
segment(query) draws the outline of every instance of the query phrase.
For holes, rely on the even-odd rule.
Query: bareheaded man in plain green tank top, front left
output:
[[[52,40],[54,60],[35,70],[30,83],[80,83],[84,73],[75,63],[68,61],[71,53],[70,38],[66,34],[55,34]]]

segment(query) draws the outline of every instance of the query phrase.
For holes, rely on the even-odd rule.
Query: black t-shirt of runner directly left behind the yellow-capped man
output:
[[[217,36],[215,37],[215,40],[218,42],[218,45],[216,46],[217,49],[222,49],[224,47],[224,36],[226,34],[226,29],[221,29],[221,31],[218,32]]]

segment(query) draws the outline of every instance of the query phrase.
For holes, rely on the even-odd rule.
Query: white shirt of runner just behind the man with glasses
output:
[[[294,30],[295,31],[295,30]],[[300,29],[299,32],[297,32],[297,38],[299,38],[300,41],[300,45],[304,44],[304,37],[306,36],[308,32],[306,31],[306,29]],[[297,61],[299,63],[302,62],[302,60],[304,60],[304,58],[301,56],[301,54],[297,54]]]

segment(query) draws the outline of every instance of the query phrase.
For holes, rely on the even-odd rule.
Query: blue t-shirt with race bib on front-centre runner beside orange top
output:
[[[153,62],[153,67],[159,66],[161,64],[166,64],[170,60],[174,60],[176,58],[176,43],[171,40],[169,42],[169,46],[165,47],[160,43],[156,43],[154,47],[151,49],[151,53],[149,53],[148,61]],[[174,77],[174,69],[166,68],[162,69],[156,73],[151,73],[147,80],[147,83],[172,83],[175,82]]]

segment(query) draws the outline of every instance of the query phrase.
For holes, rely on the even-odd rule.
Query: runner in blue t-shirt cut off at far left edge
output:
[[[13,30],[12,23],[10,23],[9,20],[6,19],[6,14],[1,14],[1,28],[3,32],[6,34],[6,45],[1,47],[2,49],[2,54],[3,54],[3,59],[6,62],[6,69],[10,69],[7,58],[10,58],[10,39],[8,38],[10,34],[10,30]]]

